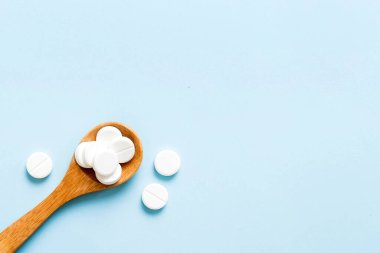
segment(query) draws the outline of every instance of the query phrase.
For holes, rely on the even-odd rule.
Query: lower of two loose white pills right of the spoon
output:
[[[169,194],[166,188],[160,184],[150,184],[145,187],[142,194],[142,202],[152,210],[163,208],[168,202]]]

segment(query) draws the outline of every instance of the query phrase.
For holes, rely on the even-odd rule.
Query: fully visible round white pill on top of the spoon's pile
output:
[[[117,165],[117,156],[111,151],[100,152],[94,158],[94,170],[102,177],[111,176]]]

